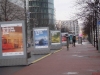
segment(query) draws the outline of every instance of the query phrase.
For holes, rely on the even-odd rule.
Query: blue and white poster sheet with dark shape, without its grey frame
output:
[[[48,30],[35,29],[34,30],[35,48],[48,48]]]

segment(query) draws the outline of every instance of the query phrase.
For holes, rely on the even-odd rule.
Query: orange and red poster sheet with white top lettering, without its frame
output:
[[[23,55],[22,23],[1,24],[2,55]]]

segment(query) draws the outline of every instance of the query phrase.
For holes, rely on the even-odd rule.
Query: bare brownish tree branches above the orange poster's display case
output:
[[[16,2],[18,1],[16,0]],[[16,2],[0,0],[1,21],[23,20],[25,18],[24,7],[17,5]]]

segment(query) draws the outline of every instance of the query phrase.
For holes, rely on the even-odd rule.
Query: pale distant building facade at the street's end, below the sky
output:
[[[79,35],[79,25],[77,20],[62,20],[56,21],[57,29],[60,29],[62,32],[69,32],[75,35]]]

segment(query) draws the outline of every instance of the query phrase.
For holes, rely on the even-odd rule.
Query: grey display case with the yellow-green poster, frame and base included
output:
[[[50,49],[61,49],[61,32],[60,31],[51,31],[51,45]]]

